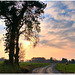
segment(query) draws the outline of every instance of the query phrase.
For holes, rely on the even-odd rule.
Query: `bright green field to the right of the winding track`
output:
[[[75,73],[75,64],[57,64],[56,69],[62,73]]]

